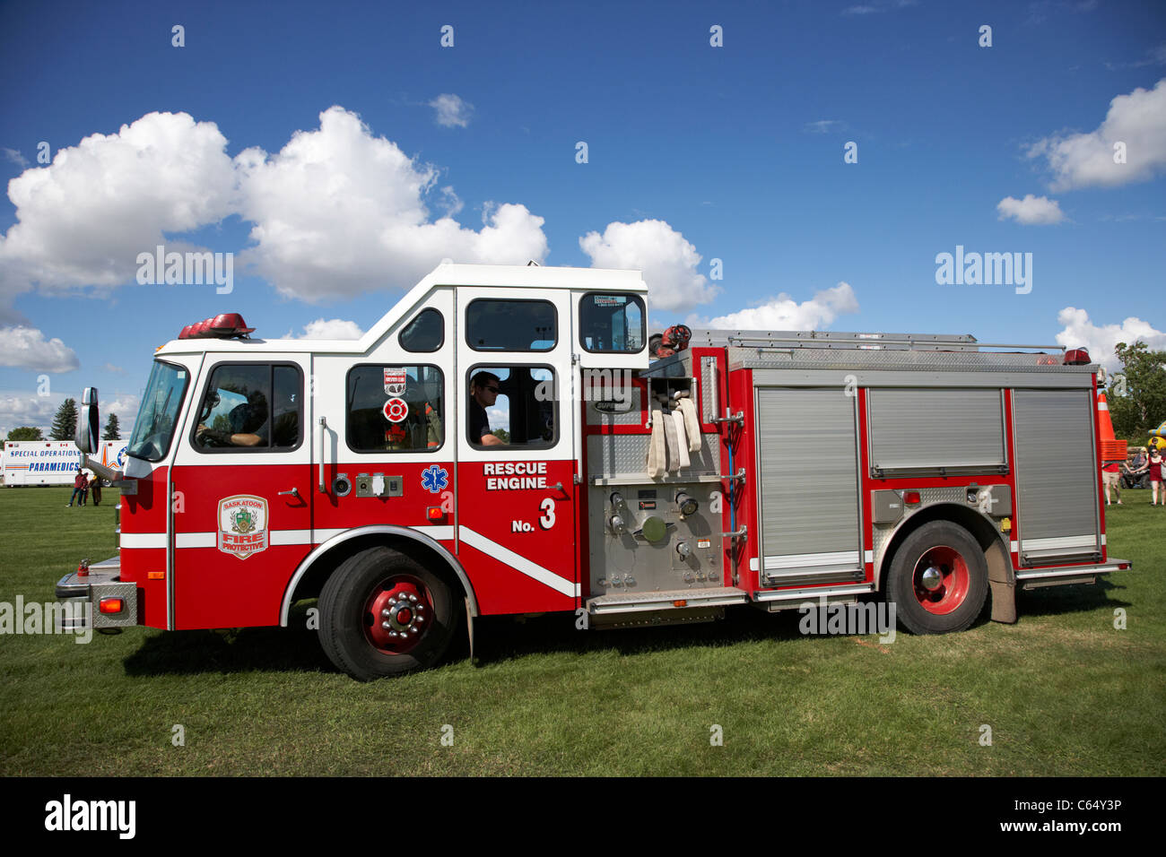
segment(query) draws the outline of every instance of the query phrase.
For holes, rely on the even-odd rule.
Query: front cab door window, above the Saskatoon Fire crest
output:
[[[219,364],[198,407],[199,452],[286,452],[300,445],[303,380],[287,364]]]

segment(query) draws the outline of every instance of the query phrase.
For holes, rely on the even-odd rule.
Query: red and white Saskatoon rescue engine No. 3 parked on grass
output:
[[[287,625],[374,679],[479,616],[588,627],[883,593],[915,633],[1016,621],[1107,556],[1088,354],[970,336],[646,335],[637,272],[442,265],[363,338],[159,349],[98,627]],[[96,449],[96,391],[78,430]],[[92,462],[86,466],[100,469]]]

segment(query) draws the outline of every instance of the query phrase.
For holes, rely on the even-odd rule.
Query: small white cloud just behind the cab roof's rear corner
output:
[[[696,269],[701,264],[696,247],[663,220],[609,223],[602,236],[583,236],[580,247],[591,257],[592,268],[642,271],[655,310],[689,309],[708,303],[717,294],[717,288]]]

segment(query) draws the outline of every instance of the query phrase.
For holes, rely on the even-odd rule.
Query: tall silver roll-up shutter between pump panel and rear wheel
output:
[[[757,391],[760,564],[771,585],[862,579],[856,396]]]

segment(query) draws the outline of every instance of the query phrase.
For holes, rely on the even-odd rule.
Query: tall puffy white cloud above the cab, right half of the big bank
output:
[[[525,205],[487,204],[478,231],[449,216],[430,223],[422,197],[437,169],[343,107],[321,113],[318,131],[297,132],[275,155],[253,148],[236,160],[257,243],[240,259],[289,297],[406,288],[443,258],[521,265],[547,255],[543,219]]]

